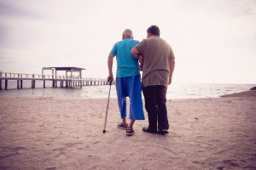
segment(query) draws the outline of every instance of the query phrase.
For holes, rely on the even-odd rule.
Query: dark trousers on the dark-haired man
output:
[[[168,129],[169,123],[166,110],[166,90],[165,86],[143,87],[146,111],[148,111],[148,128],[151,131],[158,129]]]

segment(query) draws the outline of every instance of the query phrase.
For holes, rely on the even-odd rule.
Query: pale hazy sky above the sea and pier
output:
[[[0,70],[107,77],[122,31],[141,41],[151,25],[173,48],[173,82],[256,83],[256,0],[0,0]]]

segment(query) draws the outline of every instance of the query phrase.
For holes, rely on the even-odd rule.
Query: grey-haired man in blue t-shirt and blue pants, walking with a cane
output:
[[[123,32],[123,40],[116,42],[108,55],[108,81],[113,81],[113,57],[116,56],[116,91],[118,95],[119,111],[122,122],[119,128],[126,129],[128,136],[133,135],[133,123],[135,120],[144,120],[142,84],[139,72],[138,59],[131,55],[131,48],[138,42],[133,40],[132,31],[126,29]],[[130,98],[130,123],[126,123],[126,97]]]

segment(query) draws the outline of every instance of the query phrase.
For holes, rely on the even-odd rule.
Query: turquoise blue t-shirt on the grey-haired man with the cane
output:
[[[124,39],[113,45],[111,54],[116,56],[116,77],[133,77],[140,73],[138,60],[131,55],[131,48],[137,43],[136,40]]]

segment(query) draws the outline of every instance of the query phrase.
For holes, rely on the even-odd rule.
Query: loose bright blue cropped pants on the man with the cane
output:
[[[126,117],[126,97],[129,97],[130,119],[144,120],[141,76],[117,77],[116,91],[121,117]]]

